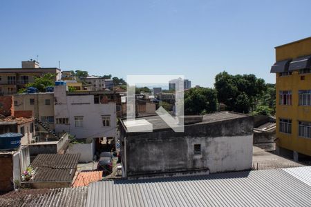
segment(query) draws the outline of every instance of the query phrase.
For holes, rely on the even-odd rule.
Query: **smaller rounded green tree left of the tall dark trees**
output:
[[[216,90],[212,88],[191,88],[185,91],[185,115],[214,112],[216,105]]]

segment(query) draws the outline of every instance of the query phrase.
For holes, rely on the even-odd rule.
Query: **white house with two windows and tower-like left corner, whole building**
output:
[[[55,86],[55,131],[66,131],[77,139],[115,137],[116,103],[110,91],[68,92]]]

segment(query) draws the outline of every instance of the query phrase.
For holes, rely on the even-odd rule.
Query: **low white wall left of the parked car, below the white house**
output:
[[[67,154],[80,154],[79,162],[93,161],[95,155],[95,142],[89,144],[70,144],[66,150]]]

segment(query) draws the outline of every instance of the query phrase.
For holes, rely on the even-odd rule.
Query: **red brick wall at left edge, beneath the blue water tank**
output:
[[[1,176],[0,176],[0,190],[13,190],[13,158],[12,155],[0,156]]]

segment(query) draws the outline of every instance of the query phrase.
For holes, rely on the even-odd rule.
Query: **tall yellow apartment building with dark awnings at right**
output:
[[[276,150],[295,161],[311,156],[311,37],[277,46]]]

